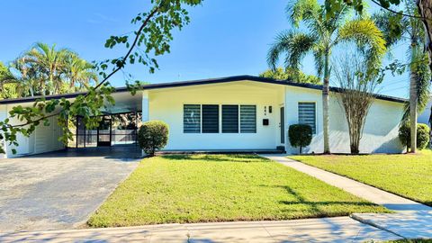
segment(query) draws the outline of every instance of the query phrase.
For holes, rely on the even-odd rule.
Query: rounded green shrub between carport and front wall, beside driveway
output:
[[[154,156],[155,151],[166,146],[168,142],[168,125],[163,121],[147,121],[138,131],[139,148],[149,156]]]

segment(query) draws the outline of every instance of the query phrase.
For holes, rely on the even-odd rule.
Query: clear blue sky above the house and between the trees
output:
[[[73,49],[87,60],[121,56],[124,49],[105,49],[110,35],[134,31],[130,19],[148,9],[149,0],[17,0],[1,1],[0,61],[7,63],[36,41]],[[204,0],[190,10],[191,23],[175,31],[171,53],[158,57],[160,69],[134,65],[126,73],[149,83],[218,76],[258,75],[266,66],[266,52],[279,31],[290,26],[284,14],[287,0]],[[403,58],[406,45],[393,50]],[[302,69],[314,74],[307,57]],[[112,85],[124,85],[120,74]],[[387,76],[380,93],[406,97],[408,78]]]

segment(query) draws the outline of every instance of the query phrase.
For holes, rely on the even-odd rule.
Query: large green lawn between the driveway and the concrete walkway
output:
[[[383,211],[266,158],[173,155],[142,160],[88,225],[289,220]]]

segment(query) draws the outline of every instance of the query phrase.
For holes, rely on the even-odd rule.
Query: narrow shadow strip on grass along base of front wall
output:
[[[167,160],[172,161],[206,161],[206,162],[270,162],[271,160],[265,157],[258,157],[257,155],[249,154],[195,154],[195,155],[164,155],[160,156]]]

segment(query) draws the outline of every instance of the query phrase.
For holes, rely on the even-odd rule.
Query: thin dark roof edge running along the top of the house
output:
[[[199,79],[199,80],[190,80],[190,81],[180,81],[180,82],[171,82],[171,83],[160,83],[160,84],[150,84],[150,85],[143,85],[143,90],[150,90],[150,89],[160,89],[160,88],[169,88],[169,87],[182,87],[182,86],[190,86],[190,85],[210,85],[210,84],[220,84],[220,83],[229,83],[229,82],[236,82],[236,81],[254,81],[254,82],[260,82],[260,83],[266,83],[266,84],[275,84],[275,85],[290,85],[290,86],[297,86],[297,87],[303,87],[303,88],[310,88],[310,89],[316,89],[321,90],[322,85],[313,85],[313,84],[301,84],[301,83],[295,83],[290,80],[276,80],[273,78],[266,78],[261,76],[249,76],[249,75],[242,75],[242,76],[226,76],[226,77],[217,77],[217,78],[208,78],[208,79]],[[115,89],[115,92],[127,92],[127,87],[118,87]],[[330,87],[330,91],[333,92],[340,92],[340,88],[338,87]],[[45,97],[47,100],[51,99],[59,99],[59,98],[75,98],[76,96],[80,94],[85,94],[85,92],[76,92],[76,93],[70,93],[70,94],[54,94],[54,95],[46,95],[46,96],[33,96],[33,97],[24,97],[24,98],[16,98],[16,99],[4,99],[0,100],[0,104],[4,103],[28,103],[36,101],[37,99],[40,99],[42,97]],[[391,102],[397,102],[397,103],[407,103],[408,100],[389,96],[389,95],[383,95],[383,94],[374,94],[375,98],[385,101],[391,101]]]

